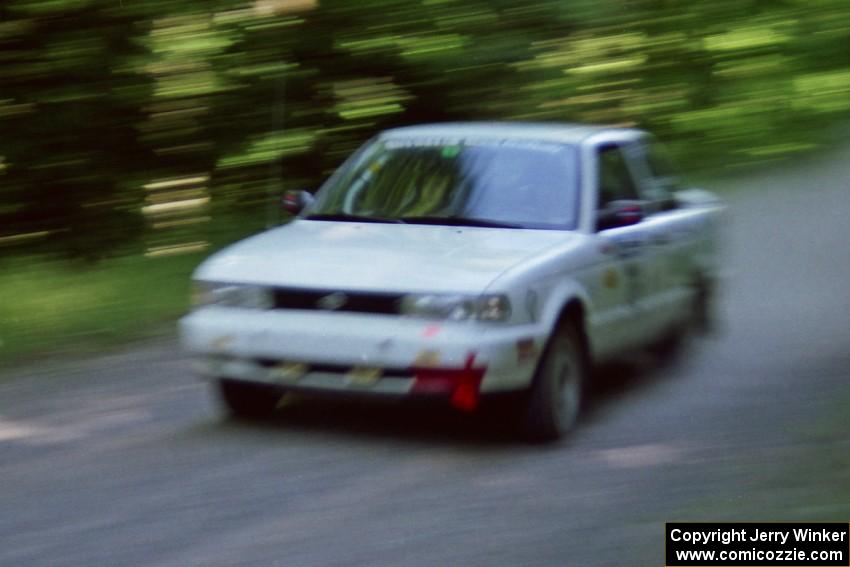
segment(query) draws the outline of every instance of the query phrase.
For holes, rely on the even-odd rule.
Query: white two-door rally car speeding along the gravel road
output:
[[[722,205],[678,191],[634,129],[437,124],[384,132],[292,222],[195,272],[182,341],[230,410],[288,392],[511,396],[569,431],[592,362],[706,317]]]

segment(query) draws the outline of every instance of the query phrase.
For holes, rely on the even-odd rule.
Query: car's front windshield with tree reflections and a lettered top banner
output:
[[[574,229],[574,147],[512,140],[385,140],[355,154],[305,218]]]

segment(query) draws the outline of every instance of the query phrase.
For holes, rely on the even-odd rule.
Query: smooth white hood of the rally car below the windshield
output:
[[[195,278],[328,290],[481,293],[505,270],[575,238],[556,230],[296,220],[215,254]]]

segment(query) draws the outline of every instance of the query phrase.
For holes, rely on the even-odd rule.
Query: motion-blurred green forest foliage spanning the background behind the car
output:
[[[8,0],[0,246],[204,241],[399,124],[634,124],[688,169],[772,163],[850,113],[848,40],[844,0]]]

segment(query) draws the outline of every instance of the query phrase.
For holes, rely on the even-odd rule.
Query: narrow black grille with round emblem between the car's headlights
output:
[[[303,289],[273,290],[275,309],[307,309],[397,315],[400,294],[349,293]]]

